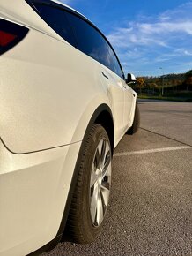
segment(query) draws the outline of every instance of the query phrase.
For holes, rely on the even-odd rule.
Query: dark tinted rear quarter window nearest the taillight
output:
[[[57,34],[61,35],[65,41],[68,41],[71,45],[76,47],[74,35],[70,29],[65,12],[62,9],[48,4],[33,3],[33,5],[40,12],[41,18],[44,19]]]

